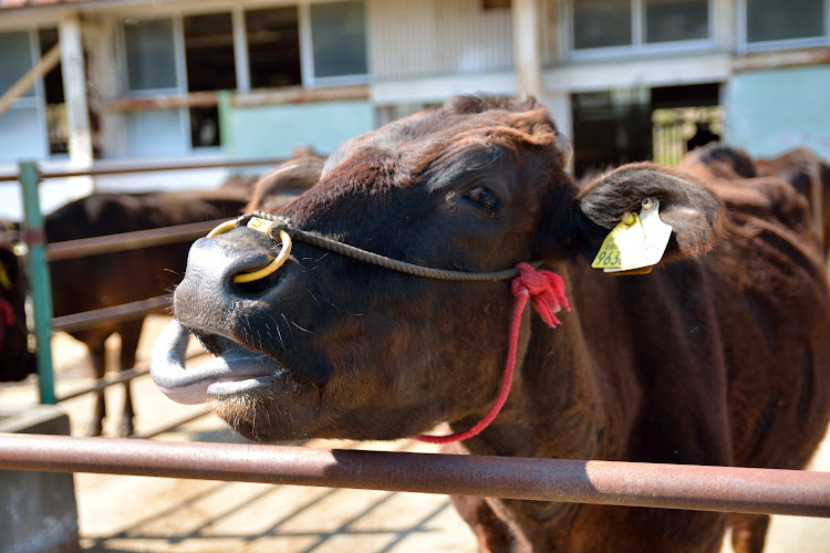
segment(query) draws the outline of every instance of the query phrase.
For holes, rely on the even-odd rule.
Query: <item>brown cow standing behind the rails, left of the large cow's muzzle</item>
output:
[[[230,189],[177,192],[94,194],[74,200],[45,217],[50,242],[77,240],[237,216],[246,205],[247,191]],[[181,279],[191,241],[180,241],[138,250],[91,255],[50,263],[54,316],[82,313],[165,295]],[[167,313],[160,307],[159,313]],[[144,315],[101,322],[70,334],[90,352],[96,378],[106,371],[104,342],[121,336],[120,371],[135,365],[135,354]],[[134,431],[129,383],[118,426],[121,436]],[[97,393],[89,434],[102,431],[106,406]]]

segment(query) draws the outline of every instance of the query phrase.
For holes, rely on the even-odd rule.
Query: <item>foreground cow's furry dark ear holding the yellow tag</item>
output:
[[[708,188],[653,164],[632,164],[584,185],[564,212],[549,219],[548,252],[593,258],[623,216],[639,213],[647,198],[660,201],[660,218],[672,227],[666,261],[703,254],[723,233],[724,208]]]

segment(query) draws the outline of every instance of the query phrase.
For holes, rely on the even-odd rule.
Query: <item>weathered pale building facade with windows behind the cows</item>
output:
[[[578,175],[706,137],[830,158],[829,63],[830,0],[0,0],[0,173],[325,153],[479,92],[542,98]],[[49,182],[44,204],[225,176]]]

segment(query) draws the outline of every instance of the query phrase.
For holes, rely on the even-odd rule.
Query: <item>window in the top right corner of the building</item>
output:
[[[822,36],[826,10],[824,0],[746,0],[746,41]]]

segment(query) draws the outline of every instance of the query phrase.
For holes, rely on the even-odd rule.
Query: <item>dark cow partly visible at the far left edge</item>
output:
[[[25,279],[14,252],[14,241],[0,237],[0,382],[22,380],[37,371],[28,348]]]

